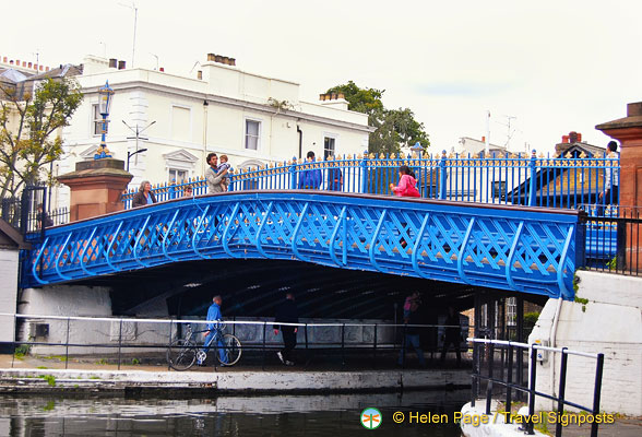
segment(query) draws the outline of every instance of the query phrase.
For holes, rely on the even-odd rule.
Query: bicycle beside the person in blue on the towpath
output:
[[[218,327],[216,328],[217,333],[212,340],[210,340],[209,345],[216,349],[216,358],[222,366],[234,366],[240,359],[241,343],[235,335],[223,333],[223,324],[218,323]],[[192,326],[188,324],[185,338],[173,341],[167,349],[167,364],[169,367],[182,371],[192,367],[197,362],[197,358],[201,358],[199,361],[204,363],[207,354],[197,345],[194,335],[207,331],[207,329],[203,331],[192,331]],[[218,353],[218,339],[223,342],[225,359],[223,359]]]

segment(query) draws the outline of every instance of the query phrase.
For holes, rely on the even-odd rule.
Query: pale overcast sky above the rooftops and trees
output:
[[[87,54],[131,66],[131,0],[2,2],[0,56],[41,64]],[[120,4],[119,4],[120,3]],[[353,80],[409,107],[433,150],[486,134],[551,150],[642,101],[642,0],[138,0],[135,66],[187,74],[205,54],[301,84],[316,101]],[[514,118],[513,118],[514,117]]]

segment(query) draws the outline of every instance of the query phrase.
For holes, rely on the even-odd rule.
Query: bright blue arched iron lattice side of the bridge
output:
[[[582,214],[309,190],[183,198],[46,229],[25,257],[22,286],[278,259],[572,299]]]

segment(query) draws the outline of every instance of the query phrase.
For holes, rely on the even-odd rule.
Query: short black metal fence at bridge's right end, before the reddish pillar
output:
[[[618,274],[642,274],[642,209],[619,206],[604,216],[586,216],[584,265]]]

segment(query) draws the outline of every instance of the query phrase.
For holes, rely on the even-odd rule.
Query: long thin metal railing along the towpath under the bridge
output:
[[[64,368],[68,368],[70,355],[105,356],[117,354],[118,368],[122,362],[122,353],[139,353],[144,351],[156,357],[164,357],[171,342],[182,338],[186,324],[205,327],[205,320],[168,320],[168,319],[134,319],[134,318],[99,318],[99,317],[63,317],[0,314],[0,318],[11,318],[19,332],[13,349],[16,351],[33,351],[34,346],[46,347],[45,355],[59,355],[62,351]],[[93,323],[88,329],[86,324]],[[103,323],[103,324],[100,324]],[[241,351],[254,351],[261,361],[261,367],[266,364],[266,356],[283,349],[281,336],[272,335],[274,321],[257,320],[225,320],[226,332],[236,335],[241,341]],[[298,327],[298,350],[305,352],[306,364],[310,363],[317,353],[332,354],[341,358],[341,365],[346,364],[348,353],[358,353],[366,358],[366,363],[373,368],[381,366],[379,358],[385,354],[387,359],[406,367],[406,359],[413,359],[416,350],[406,344],[409,330],[417,335],[426,336],[429,332],[445,332],[447,328],[460,328],[462,332],[468,327],[444,324],[394,324],[394,323],[353,323],[353,322],[307,322],[280,323]],[[132,328],[133,327],[133,328]],[[93,340],[79,338],[83,332],[94,333]],[[195,331],[197,329],[194,329]],[[144,332],[144,335],[133,340],[133,332]],[[355,335],[360,331],[361,335]],[[367,332],[366,332],[367,331]],[[100,335],[103,335],[100,338]],[[135,336],[135,335],[133,335]],[[465,339],[465,336],[463,336]],[[200,339],[202,340],[202,339]],[[460,353],[467,351],[467,343],[462,341]],[[401,352],[405,349],[405,354]],[[71,350],[71,352],[70,352]],[[91,350],[95,350],[92,352]],[[86,352],[79,352],[86,351]],[[98,352],[96,352],[98,351]],[[111,351],[111,352],[108,352]],[[411,354],[412,352],[412,354]],[[438,349],[427,351],[440,352]],[[448,353],[457,352],[455,347]],[[392,355],[391,355],[392,354]],[[411,357],[405,357],[409,355]],[[14,354],[15,358],[15,354]],[[215,363],[215,362],[214,362]],[[12,362],[12,367],[13,367]]]

